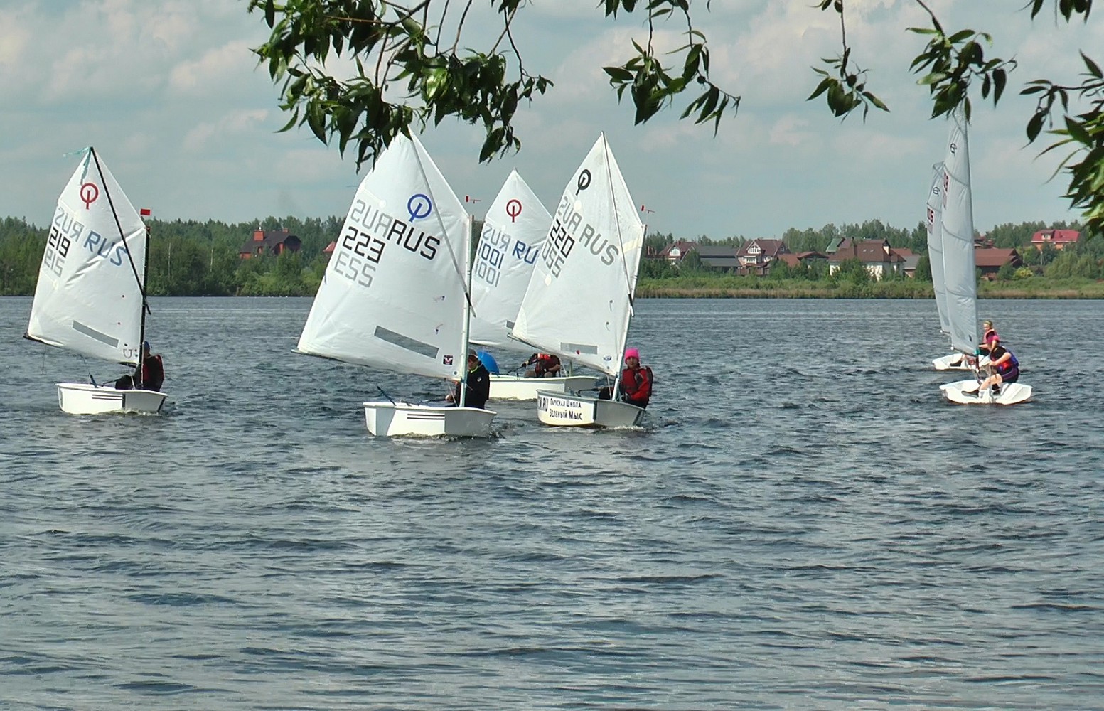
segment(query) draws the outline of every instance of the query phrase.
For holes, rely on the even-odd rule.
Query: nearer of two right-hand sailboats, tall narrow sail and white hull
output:
[[[946,280],[951,346],[963,355],[979,354],[977,337],[977,276],[974,264],[974,199],[970,191],[969,145],[960,110],[952,114],[951,136],[943,163],[943,273]],[[1005,383],[999,394],[979,392],[979,379],[940,385],[958,404],[1011,405],[1031,399],[1031,386]]]

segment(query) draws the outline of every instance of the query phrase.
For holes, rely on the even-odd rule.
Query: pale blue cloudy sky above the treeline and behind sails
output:
[[[439,4],[439,2],[438,2]],[[458,7],[458,3],[453,3]],[[689,99],[634,126],[603,65],[645,41],[644,15],[606,19],[598,0],[533,0],[514,39],[530,73],[554,82],[519,109],[520,152],[479,163],[482,129],[446,120],[421,134],[476,217],[511,169],[554,209],[565,183],[605,131],[649,233],[675,238],[777,238],[798,230],[881,220],[912,229],[923,217],[932,165],[948,125],[931,118],[926,87],[909,64],[928,26],[915,0],[849,0],[848,42],[870,70],[869,88],[890,107],[840,120],[822,97],[806,100],[810,68],[839,53],[839,24],[809,0],[698,0],[712,78],[741,96],[712,125],[678,120]],[[1028,145],[1031,79],[1079,83],[1078,49],[1104,47],[1104,22],[1068,25],[1051,3],[1032,22],[1023,0],[928,0],[945,28],[984,30],[987,54],[1019,68],[999,106],[974,96],[970,160],[974,222],[1075,220],[1062,176],[1050,180],[1049,141]],[[135,206],[160,220],[246,222],[266,216],[343,216],[369,166],[357,171],[306,128],[278,132],[288,116],[251,47],[268,35],[245,0],[0,0],[0,217],[45,225],[77,157],[95,146]],[[461,43],[488,50],[497,36],[488,0],[476,0]],[[1048,14],[1049,13],[1049,14]],[[682,25],[657,26],[673,47]],[[1095,56],[1104,62],[1104,56]],[[335,66],[340,71],[340,66]]]

